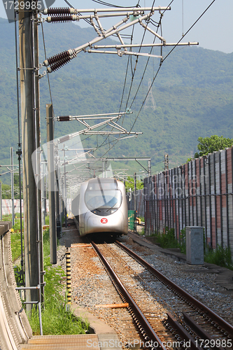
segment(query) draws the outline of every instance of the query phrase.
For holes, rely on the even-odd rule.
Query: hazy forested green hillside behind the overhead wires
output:
[[[62,50],[76,48],[90,41],[96,34],[90,29],[81,29],[71,23],[46,24],[44,27],[47,57]],[[15,79],[14,25],[0,19],[0,164],[9,164],[10,146],[17,148],[17,100]],[[108,39],[110,41],[110,39]],[[167,49],[168,50],[168,49]],[[44,50],[40,28],[40,62]],[[136,92],[146,59],[140,57],[132,87],[131,98]],[[107,156],[151,157],[153,172],[162,171],[164,153],[169,154],[169,167],[185,162],[197,152],[198,137],[213,134],[232,139],[233,110],[233,53],[205,50],[198,47],[177,48],[162,64],[153,85],[156,109],[148,99],[139,114],[143,98],[148,91],[148,80],[153,78],[159,62],[151,59],[143,84],[132,106],[133,114],[125,117],[123,127],[129,130],[136,117],[133,131],[143,132],[138,138],[119,141]],[[120,109],[127,57],[92,55],[81,52],[69,64],[50,74],[52,103],[56,116],[83,115],[90,113],[113,113]],[[132,69],[135,58],[132,58]],[[41,69],[41,72],[43,69]],[[127,78],[129,92],[131,67]],[[48,79],[41,84],[41,141],[45,142],[45,104],[50,103]],[[125,109],[126,96],[122,110]],[[83,128],[83,127],[82,127]],[[80,130],[77,122],[55,123],[55,137]],[[110,138],[111,142],[113,138]],[[94,147],[103,139],[83,137],[83,146]],[[99,156],[108,146],[94,153]],[[15,161],[16,161],[15,157]],[[140,169],[135,162],[120,162],[113,167]],[[132,173],[131,173],[132,174]],[[5,182],[5,181],[4,181]]]

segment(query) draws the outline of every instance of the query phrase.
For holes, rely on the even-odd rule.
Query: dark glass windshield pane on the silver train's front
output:
[[[120,190],[94,190],[87,188],[85,204],[87,208],[97,215],[110,215],[120,208],[122,194]]]

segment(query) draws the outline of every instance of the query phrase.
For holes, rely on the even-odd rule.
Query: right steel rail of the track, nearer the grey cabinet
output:
[[[211,321],[218,323],[218,325],[220,325],[225,330],[227,330],[227,332],[231,336],[233,335],[233,326],[230,323],[228,323],[227,321],[225,321],[225,319],[218,316],[218,314],[216,314],[214,311],[209,309],[209,307],[206,307],[206,305],[202,304],[202,302],[199,302],[199,300],[197,300],[195,297],[190,295],[188,292],[183,290],[181,287],[177,286],[176,283],[174,283],[173,281],[171,281],[171,279],[168,279],[166,276],[164,276],[164,274],[159,272],[157,269],[155,269],[155,267],[151,266],[146,260],[141,258],[136,253],[134,253],[134,251],[131,251],[129,248],[127,248],[127,246],[124,246],[119,241],[115,241],[115,244],[117,246],[119,246],[120,248],[122,248],[124,251],[126,251],[129,255],[131,255],[132,258],[134,258],[141,265],[146,267],[146,269],[148,269],[148,271],[150,271],[151,274],[153,274],[158,279],[160,279],[160,281],[163,281],[164,283],[166,283],[173,290],[176,290],[176,292],[179,293],[188,302],[191,302],[195,307],[200,309],[203,312],[203,315],[202,315],[203,317],[211,318]]]

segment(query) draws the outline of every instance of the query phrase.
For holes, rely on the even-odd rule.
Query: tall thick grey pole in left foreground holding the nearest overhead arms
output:
[[[24,0],[24,5],[26,1]],[[25,9],[25,10],[24,10]],[[23,198],[24,198],[24,257],[26,287],[41,286],[43,272],[41,193],[36,186],[31,155],[40,144],[38,88],[38,29],[36,10],[19,10],[20,93],[22,120]],[[36,162],[37,163],[37,162]],[[38,160],[39,163],[39,160]],[[36,164],[38,165],[38,164]],[[37,179],[40,169],[37,167]],[[41,295],[40,298],[41,299]],[[27,311],[38,300],[38,291],[26,290]],[[40,300],[38,300],[40,302]]]

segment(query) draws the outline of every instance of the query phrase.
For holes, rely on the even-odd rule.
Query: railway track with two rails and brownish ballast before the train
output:
[[[186,345],[190,349],[232,349],[232,325],[139,255],[118,241],[92,241],[92,246],[123,302],[129,303],[132,325],[128,327],[134,328],[134,337],[137,333],[141,344],[148,349],[149,344],[151,349],[174,348],[174,344],[181,349]]]

